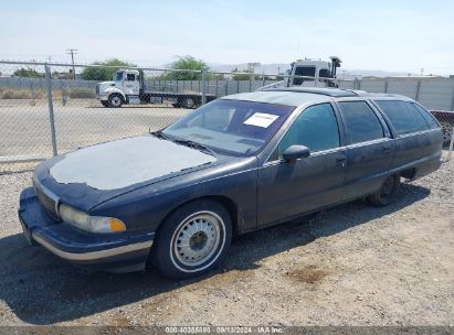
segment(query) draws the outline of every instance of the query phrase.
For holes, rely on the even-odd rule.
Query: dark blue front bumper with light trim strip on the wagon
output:
[[[33,187],[22,191],[19,219],[28,241],[92,270],[142,270],[155,233],[89,234],[52,218]]]

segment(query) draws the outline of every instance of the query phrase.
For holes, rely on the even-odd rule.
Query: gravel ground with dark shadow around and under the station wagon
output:
[[[31,173],[0,175],[1,325],[454,325],[454,162],[357,201],[239,238],[221,269],[84,273],[29,247],[17,219]]]

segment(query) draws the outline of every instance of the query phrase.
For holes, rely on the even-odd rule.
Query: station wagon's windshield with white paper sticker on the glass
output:
[[[218,99],[166,128],[170,138],[201,143],[214,151],[252,155],[287,119],[294,106]]]

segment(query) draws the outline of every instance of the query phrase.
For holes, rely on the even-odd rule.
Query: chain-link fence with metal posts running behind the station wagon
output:
[[[401,94],[420,101],[442,125],[444,145],[451,158],[454,79],[332,82],[285,75],[125,68],[123,90],[138,90],[138,94],[137,99],[118,94],[122,108],[117,108],[115,101],[108,99],[110,94],[103,95],[115,90],[116,69],[0,61],[0,173],[33,169],[38,161],[81,147],[159,130],[217,97],[282,86],[295,78],[299,78],[303,86],[335,85]]]

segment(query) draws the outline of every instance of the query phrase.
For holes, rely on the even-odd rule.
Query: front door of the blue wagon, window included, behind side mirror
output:
[[[289,163],[282,154],[303,144],[310,156]],[[257,223],[265,226],[340,202],[347,164],[330,104],[306,108],[282,139],[275,160],[258,169]]]

